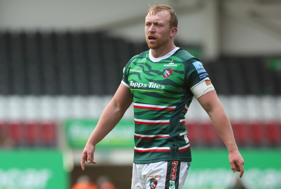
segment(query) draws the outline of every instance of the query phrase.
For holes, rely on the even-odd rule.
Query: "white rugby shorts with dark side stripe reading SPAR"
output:
[[[185,161],[134,163],[131,189],[182,189],[189,166]]]

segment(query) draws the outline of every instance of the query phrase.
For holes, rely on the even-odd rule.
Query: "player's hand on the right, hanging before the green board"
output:
[[[244,159],[242,158],[241,154],[238,151],[229,153],[228,159],[233,173],[235,173],[236,171],[240,172],[240,178],[241,178],[244,173],[244,168],[243,168]]]

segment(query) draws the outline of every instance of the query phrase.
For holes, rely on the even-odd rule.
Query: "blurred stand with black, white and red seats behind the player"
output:
[[[148,49],[101,32],[0,32],[0,41],[0,130],[16,147],[55,147],[57,120],[98,117],[93,107],[104,108],[128,60]],[[203,60],[217,93],[227,97],[221,101],[239,146],[281,145],[281,72],[267,58]],[[200,111],[193,107],[191,115]],[[186,121],[192,145],[222,146],[211,123],[199,119]]]

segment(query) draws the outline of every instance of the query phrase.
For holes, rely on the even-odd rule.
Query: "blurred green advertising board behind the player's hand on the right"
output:
[[[239,150],[245,172],[230,170],[227,150],[192,149],[192,162],[184,189],[231,189],[235,184],[247,189],[281,188],[281,150]]]

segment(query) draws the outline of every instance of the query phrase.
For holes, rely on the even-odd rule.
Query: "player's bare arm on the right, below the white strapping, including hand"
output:
[[[229,152],[229,163],[233,172],[239,171],[240,178],[244,173],[244,159],[236,145],[230,121],[220,103],[215,90],[207,92],[198,98],[198,102],[208,113],[215,129],[225,143]]]

